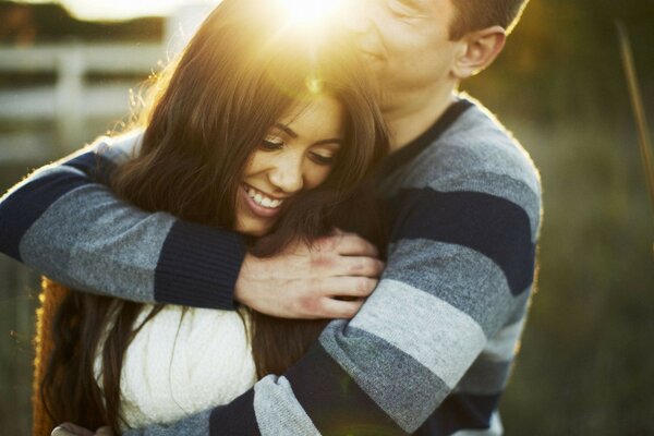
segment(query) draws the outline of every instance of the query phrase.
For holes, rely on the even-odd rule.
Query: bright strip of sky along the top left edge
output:
[[[168,15],[181,5],[217,4],[220,0],[23,0],[27,3],[63,4],[83,20],[128,20],[146,15]]]

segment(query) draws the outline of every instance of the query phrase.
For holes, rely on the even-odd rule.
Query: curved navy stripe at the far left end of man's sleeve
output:
[[[40,216],[61,196],[89,184],[78,174],[44,175],[19,189],[0,204],[0,252],[22,262],[21,240]]]

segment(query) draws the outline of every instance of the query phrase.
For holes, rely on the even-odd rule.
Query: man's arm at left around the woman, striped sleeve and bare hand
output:
[[[351,317],[362,301],[332,296],[374,289],[383,265],[356,235],[259,259],[232,232],[117,198],[108,178],[140,141],[140,132],[100,138],[11,189],[0,198],[0,252],[82,291],[223,310],[235,299],[282,317]]]

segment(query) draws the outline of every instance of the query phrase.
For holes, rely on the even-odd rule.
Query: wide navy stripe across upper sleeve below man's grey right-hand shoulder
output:
[[[533,282],[535,245],[526,211],[479,192],[405,189],[388,203],[391,242],[428,239],[475,250],[504,271],[513,295]]]

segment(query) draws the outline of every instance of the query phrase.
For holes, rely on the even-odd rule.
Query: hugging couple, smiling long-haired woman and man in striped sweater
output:
[[[223,0],[140,129],[0,203],[48,277],[35,435],[501,434],[540,180],[456,90],[524,3],[356,0],[308,37]]]

